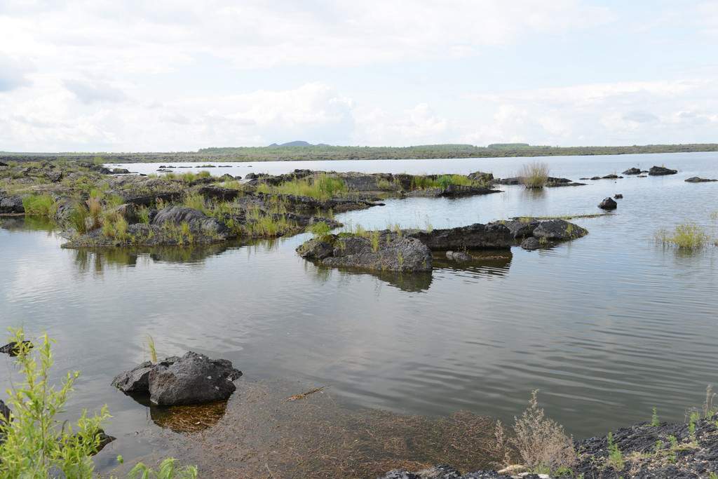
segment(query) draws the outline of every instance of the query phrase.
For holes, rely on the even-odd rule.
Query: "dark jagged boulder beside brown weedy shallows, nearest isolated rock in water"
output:
[[[118,374],[112,386],[126,393],[149,392],[154,404],[198,404],[227,399],[236,390],[232,381],[240,376],[230,361],[190,351],[157,364],[141,363]]]

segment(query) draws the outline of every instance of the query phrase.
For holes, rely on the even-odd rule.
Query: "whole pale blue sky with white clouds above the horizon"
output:
[[[718,1],[1,0],[0,151],[718,142]]]

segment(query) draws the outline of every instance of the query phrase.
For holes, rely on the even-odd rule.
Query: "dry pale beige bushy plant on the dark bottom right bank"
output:
[[[521,452],[524,465],[532,470],[566,470],[576,462],[572,438],[564,427],[545,417],[544,409],[538,408],[538,389],[531,393],[529,406],[520,418],[514,417],[513,431],[516,437],[510,442]]]

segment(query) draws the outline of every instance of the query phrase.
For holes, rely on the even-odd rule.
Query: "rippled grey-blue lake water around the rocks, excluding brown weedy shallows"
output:
[[[213,175],[361,172],[515,176],[533,159],[257,162]],[[512,248],[506,261],[435,261],[429,275],[324,269],[294,252],[306,236],[157,251],[61,249],[51,225],[5,218],[0,227],[0,317],[57,341],[55,379],[82,376],[68,409],[108,404],[106,429],[132,455],[135,432],[157,432],[148,410],[110,386],[148,358],[194,350],[227,358],[245,381],[287,378],[329,385],[350,407],[447,415],[457,409],[504,422],[539,404],[574,437],[651,419],[683,421],[718,383],[718,248],[677,251],[653,241],[658,228],[694,220],[708,231],[718,210],[718,153],[544,157],[551,175],[579,180],[629,167],[679,169],[666,177],[586,181],[582,187],[457,200],[386,200],[336,215],[365,228],[434,228],[512,216],[600,213],[573,220],[589,235],[550,250]],[[121,165],[154,172],[158,164]],[[176,166],[176,165],[175,165]],[[196,166],[196,165],[193,165]],[[196,168],[195,171],[199,170]],[[177,169],[178,172],[190,169]],[[6,361],[3,389],[14,376]],[[238,389],[241,395],[241,383]]]

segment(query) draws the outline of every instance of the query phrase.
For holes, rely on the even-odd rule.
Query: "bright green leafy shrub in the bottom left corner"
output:
[[[54,341],[43,333],[33,347],[23,343],[25,335],[22,327],[8,329],[14,335],[9,341],[19,345],[15,362],[24,380],[14,382],[7,390],[10,421],[6,422],[4,415],[0,414],[0,432],[5,435],[4,442],[0,443],[0,477],[95,477],[91,456],[100,447],[98,429],[111,417],[106,406],[93,417],[88,417],[87,411],[83,411],[78,422],[70,424],[64,421],[60,427],[56,416],[65,412],[65,404],[73,393],[73,383],[80,373],[68,372],[62,387],[55,389],[47,383],[54,362],[50,349]],[[121,456],[118,456],[118,461],[123,463]],[[130,470],[129,478],[195,479],[197,468],[176,468],[173,458],[162,461],[157,471],[139,462]]]

